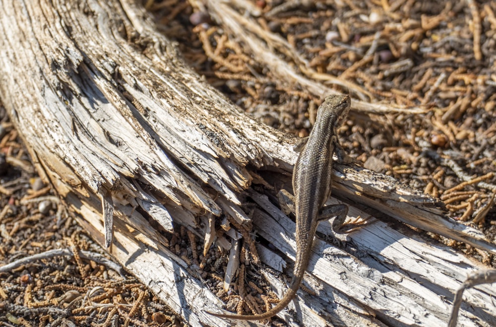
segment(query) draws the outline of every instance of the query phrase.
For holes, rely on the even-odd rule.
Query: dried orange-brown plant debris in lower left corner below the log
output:
[[[184,325],[81,233],[1,117],[2,326]]]

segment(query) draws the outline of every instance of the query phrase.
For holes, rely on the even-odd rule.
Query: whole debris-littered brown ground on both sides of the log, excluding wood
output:
[[[321,99],[278,80],[207,11],[187,1],[144,2],[209,83],[256,119],[308,135]],[[336,91],[424,109],[353,111],[341,143],[366,168],[441,198],[450,217],[494,241],[496,1],[252,4],[260,26],[298,49],[300,60],[346,81],[329,81]],[[28,258],[0,270],[3,326],[185,325],[81,230],[37,177],[4,110],[0,121],[0,266]],[[441,241],[496,266],[486,253]],[[67,251],[47,253],[57,249]],[[35,254],[43,258],[30,259]],[[72,310],[81,299],[86,305]]]

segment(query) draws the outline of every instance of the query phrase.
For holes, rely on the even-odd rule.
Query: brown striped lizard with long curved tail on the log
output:
[[[349,233],[344,221],[348,206],[334,204],[324,206],[331,195],[332,162],[335,153],[341,163],[353,162],[338,142],[337,129],[350,110],[348,95],[329,95],[317,109],[317,118],[310,136],[302,139],[300,155],[293,170],[293,192],[296,213],[296,260],[293,278],[288,292],[269,311],[257,315],[235,315],[207,312],[213,316],[238,320],[266,320],[284,309],[300,288],[303,275],[310,261],[315,230],[320,221],[336,217],[332,229],[337,233]],[[350,224],[355,225],[355,224]]]

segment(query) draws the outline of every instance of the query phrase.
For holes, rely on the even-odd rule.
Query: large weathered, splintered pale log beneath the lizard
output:
[[[218,10],[228,4],[207,2],[235,33],[243,20],[227,22],[232,17]],[[281,296],[286,284],[276,271],[291,273],[295,226],[274,196],[275,187],[289,185],[294,137],[253,120],[205,83],[139,4],[1,7],[1,101],[36,168],[90,235],[102,245],[111,240],[105,216],[113,226],[110,253],[192,326],[232,322],[203,312],[223,303],[198,268],[169,249],[164,235],[174,227],[185,226],[206,250],[214,242],[230,254],[225,287],[236,278],[242,236],[256,231],[266,241],[256,248],[260,274]],[[240,38],[248,44],[247,35]],[[294,76],[315,95],[330,91]],[[354,102],[354,109],[366,106]],[[355,166],[336,165],[334,177],[333,195],[347,203],[496,254],[421,192]],[[349,216],[370,213],[351,206]],[[481,265],[397,226],[377,220],[342,237],[321,224],[306,279],[315,295],[300,291],[279,317],[291,326],[445,324],[454,292]],[[338,246],[331,244],[336,239]],[[495,326],[495,295],[487,285],[467,290],[460,324]]]

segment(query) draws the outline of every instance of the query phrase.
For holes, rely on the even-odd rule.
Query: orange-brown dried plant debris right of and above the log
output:
[[[308,135],[321,97],[303,79],[351,93],[355,102],[423,109],[355,108],[341,143],[366,168],[441,198],[451,217],[495,238],[495,1],[148,3],[190,65],[275,128]],[[213,4],[224,6],[223,17],[239,15],[249,40],[275,52],[300,79],[256,60]],[[178,24],[188,28],[176,33]]]

